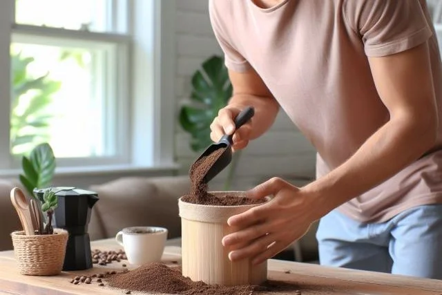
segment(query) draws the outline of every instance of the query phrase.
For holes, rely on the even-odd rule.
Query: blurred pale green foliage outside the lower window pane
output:
[[[12,112],[10,142],[12,153],[23,155],[32,146],[49,140],[50,120],[48,112],[52,95],[59,91],[60,82],[52,81],[48,74],[33,78],[28,73],[32,57],[21,53],[11,55]]]

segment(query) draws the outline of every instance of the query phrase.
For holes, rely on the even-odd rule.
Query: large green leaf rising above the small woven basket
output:
[[[55,173],[55,156],[48,143],[35,146],[29,158],[23,155],[21,159],[23,174],[20,182],[30,196],[34,196],[34,189],[48,187]]]

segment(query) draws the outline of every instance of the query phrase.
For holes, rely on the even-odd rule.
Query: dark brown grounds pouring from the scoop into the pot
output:
[[[239,206],[245,204],[261,204],[264,202],[264,200],[252,200],[237,196],[215,196],[207,192],[208,185],[204,180],[204,176],[225,150],[225,148],[217,149],[209,155],[200,158],[191,166],[189,171],[191,191],[189,195],[182,198],[184,202],[213,206]]]

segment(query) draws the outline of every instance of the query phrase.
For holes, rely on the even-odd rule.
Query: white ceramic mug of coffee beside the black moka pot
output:
[[[131,265],[142,265],[161,260],[167,232],[164,227],[126,227],[117,233],[115,240],[124,247]]]

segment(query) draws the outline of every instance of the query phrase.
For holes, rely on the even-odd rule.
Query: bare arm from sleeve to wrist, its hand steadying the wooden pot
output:
[[[331,210],[401,171],[434,146],[438,115],[427,44],[370,57],[379,96],[390,120],[354,155],[303,190]]]

